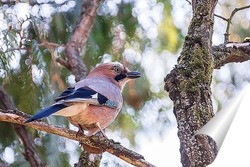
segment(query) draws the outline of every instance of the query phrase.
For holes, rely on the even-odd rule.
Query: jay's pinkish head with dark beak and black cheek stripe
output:
[[[94,68],[87,78],[100,77],[109,79],[112,83],[117,85],[121,90],[125,84],[135,78],[139,78],[141,74],[136,71],[130,71],[123,64],[118,62],[104,63]]]

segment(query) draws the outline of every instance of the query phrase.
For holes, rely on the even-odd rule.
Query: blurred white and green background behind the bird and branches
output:
[[[34,114],[75,83],[74,76],[58,64],[81,13],[81,0],[0,1],[0,84],[15,106]],[[228,18],[236,7],[250,0],[220,0],[217,15]],[[188,1],[104,0],[82,55],[88,71],[99,63],[119,61],[143,77],[127,84],[124,106],[106,134],[123,146],[144,155],[158,167],[181,166],[173,104],[164,91],[164,77],[180,54],[192,16]],[[230,28],[232,42],[250,36],[249,9],[235,14]],[[224,42],[227,23],[215,17],[213,45]],[[53,49],[44,47],[55,43]],[[250,81],[250,62],[233,63],[214,71],[214,111]],[[1,107],[1,106],[0,106]],[[61,117],[51,124],[77,130]],[[73,166],[81,149],[75,141],[29,129],[43,162]],[[9,123],[0,122],[0,162],[28,166],[23,145]],[[104,153],[101,166],[130,166]]]

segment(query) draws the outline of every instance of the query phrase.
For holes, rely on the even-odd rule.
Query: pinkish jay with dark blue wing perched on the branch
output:
[[[92,136],[110,125],[123,104],[122,90],[131,79],[141,76],[119,62],[98,65],[81,81],[65,89],[54,103],[28,118],[29,123],[50,115],[66,117],[67,120]]]

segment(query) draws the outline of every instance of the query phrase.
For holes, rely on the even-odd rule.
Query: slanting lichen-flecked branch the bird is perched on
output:
[[[109,140],[107,138],[100,138],[97,136],[80,136],[78,132],[70,129],[61,128],[58,126],[48,125],[42,121],[34,121],[31,123],[24,123],[27,119],[27,114],[18,110],[2,110],[0,109],[0,121],[16,123],[32,127],[37,130],[41,130],[47,133],[52,133],[68,139],[79,141],[90,148],[95,148],[101,151],[107,151],[110,154],[117,156],[118,158],[139,167],[154,167],[154,165],[145,161],[144,157],[132,150],[129,150],[119,143]]]

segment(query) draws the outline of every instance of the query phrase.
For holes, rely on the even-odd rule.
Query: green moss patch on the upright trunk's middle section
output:
[[[184,64],[179,70],[185,79],[180,83],[180,88],[183,91],[195,92],[201,85],[209,85],[213,72],[213,60],[207,51],[207,46],[197,43],[191,47],[186,46],[181,55],[179,61],[183,61]]]

